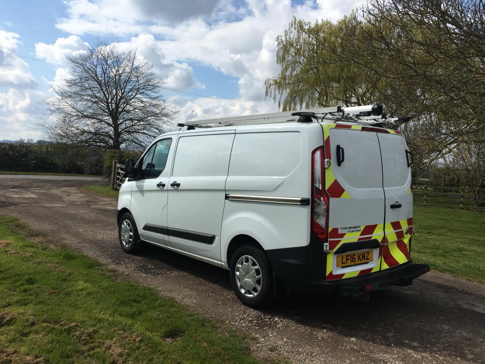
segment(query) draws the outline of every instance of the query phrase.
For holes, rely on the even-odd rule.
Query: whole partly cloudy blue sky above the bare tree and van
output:
[[[179,119],[270,112],[264,80],[277,75],[275,38],[294,15],[336,20],[362,1],[43,0],[0,1],[0,50],[58,64],[97,38],[138,54],[166,87]],[[0,140],[42,138],[39,100],[68,68],[0,53]],[[258,106],[258,107],[256,107]]]

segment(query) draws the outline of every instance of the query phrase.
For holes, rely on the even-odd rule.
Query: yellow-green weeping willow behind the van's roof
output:
[[[284,34],[276,38],[278,76],[266,80],[266,97],[286,110],[329,106],[353,106],[376,101],[382,84],[370,82],[369,70],[356,62],[342,61],[341,27],[329,20],[306,22],[292,18]]]

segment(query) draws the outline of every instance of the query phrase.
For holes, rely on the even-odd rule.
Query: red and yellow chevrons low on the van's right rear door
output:
[[[406,263],[409,260],[409,239],[413,218],[386,223],[386,241],[382,249],[381,270]]]

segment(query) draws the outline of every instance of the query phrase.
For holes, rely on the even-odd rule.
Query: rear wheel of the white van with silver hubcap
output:
[[[239,247],[231,258],[230,277],[234,293],[245,305],[263,307],[273,303],[273,269],[261,249]]]

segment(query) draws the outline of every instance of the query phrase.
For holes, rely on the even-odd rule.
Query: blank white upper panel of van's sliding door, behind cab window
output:
[[[178,138],[173,177],[227,176],[234,134]]]

